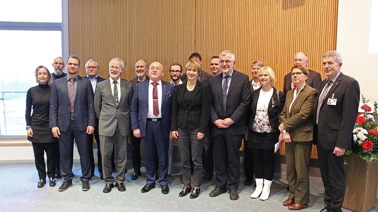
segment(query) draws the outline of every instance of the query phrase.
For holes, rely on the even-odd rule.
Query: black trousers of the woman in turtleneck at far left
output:
[[[39,179],[46,179],[45,152],[47,156],[47,176],[55,178],[56,155],[58,152],[58,142],[51,143],[31,143],[33,145],[35,167],[38,172]]]

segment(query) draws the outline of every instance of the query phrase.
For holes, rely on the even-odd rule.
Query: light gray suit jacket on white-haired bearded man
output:
[[[133,97],[131,82],[121,79],[121,96],[118,106],[111,93],[110,80],[106,79],[97,84],[94,109],[98,118],[98,134],[112,136],[116,132],[117,124],[122,136],[130,135],[130,106]]]

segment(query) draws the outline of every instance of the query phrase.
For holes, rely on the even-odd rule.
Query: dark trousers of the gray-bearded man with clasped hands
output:
[[[238,190],[242,138],[243,135],[231,135],[228,129],[218,129],[218,134],[213,137],[216,187]]]

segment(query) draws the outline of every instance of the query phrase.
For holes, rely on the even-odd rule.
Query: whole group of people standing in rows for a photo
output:
[[[240,184],[239,149],[244,138],[245,184],[251,185],[254,176],[256,188],[251,198],[261,200],[270,195],[275,144],[286,143],[289,196],[283,205],[298,210],[309,203],[310,154],[314,143],[325,188],[321,211],[341,211],[345,191],[343,161],[351,144],[359,104],[358,82],[341,73],[341,55],[330,51],[323,56],[327,78],[322,81],[318,72],[307,68],[307,55],[296,53],[294,66],[284,77],[284,92],[274,88],[274,71],[260,61],[252,63],[253,78],[249,80],[248,75],[234,69],[236,59],[231,51],[211,58],[211,75],[201,69],[201,55],[193,53],[189,59],[184,66],[186,73],[182,73],[179,64],[170,66],[171,83],[161,80],[161,63],[148,66],[144,60],[135,63],[137,76],[127,81],[121,79],[123,60],[114,58],[108,66],[110,77],[99,82],[96,61],[86,64],[87,80],[78,76],[79,58],[69,56],[67,76],[54,81],[52,87],[53,77],[48,69],[37,67],[39,85],[27,93],[26,121],[40,177],[38,187],[46,183],[44,151],[50,186],[55,186],[58,152],[58,166],[64,178],[59,191],[72,186],[74,138],[81,158],[83,190],[89,190],[89,180],[94,176],[89,144],[93,137],[89,135],[97,132],[100,173],[106,183],[104,193],[111,191],[114,182],[119,191],[126,190],[126,142],[130,136],[134,166],[131,179],[141,175],[143,141],[146,184],[141,192],[155,188],[158,180],[162,193],[167,194],[175,138],[184,184],[179,196],[191,193],[190,198],[197,198],[201,184],[212,179],[215,167],[216,186],[209,195],[216,197],[229,190],[230,199],[236,200]],[[55,60],[62,69],[63,59]],[[95,76],[93,69],[97,69]],[[117,158],[116,178],[111,175],[112,155]]]

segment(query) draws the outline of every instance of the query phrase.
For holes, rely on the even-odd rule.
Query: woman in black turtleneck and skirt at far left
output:
[[[42,188],[46,183],[46,166],[44,152],[47,155],[47,176],[49,185],[55,186],[55,167],[58,152],[58,140],[54,138],[49,128],[49,107],[52,81],[51,73],[44,66],[35,69],[38,86],[32,87],[26,95],[26,130],[27,140],[33,145],[35,167],[40,180],[37,187]],[[33,109],[33,114],[31,114]]]

